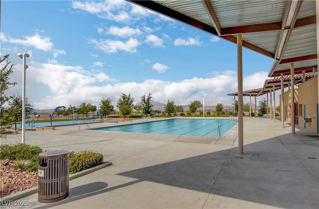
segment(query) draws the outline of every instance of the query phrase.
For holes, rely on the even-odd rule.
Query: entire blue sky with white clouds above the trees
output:
[[[135,103],[151,93],[161,103],[204,96],[205,105],[230,105],[237,92],[236,44],[124,0],[2,0],[0,26],[0,53],[19,84],[7,94],[21,94],[17,53],[27,52],[26,97],[36,108],[115,105],[121,93]],[[244,48],[244,91],[262,88],[272,64]]]

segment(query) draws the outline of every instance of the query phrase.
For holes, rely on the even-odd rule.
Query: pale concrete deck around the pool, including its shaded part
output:
[[[237,125],[220,139],[80,128],[26,131],[25,139],[43,150],[98,151],[113,165],[71,180],[62,201],[19,199],[27,208],[319,208],[319,134],[296,128],[292,135],[279,120],[244,117],[244,155]],[[21,134],[1,139],[16,142]]]

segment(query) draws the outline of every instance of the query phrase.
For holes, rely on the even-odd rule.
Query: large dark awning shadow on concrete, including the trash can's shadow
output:
[[[302,137],[309,134],[296,133]],[[318,142],[316,137],[300,140],[285,134],[245,145],[244,155],[238,155],[238,149],[232,148],[127,171],[117,175],[137,180],[111,188],[105,182],[70,188],[66,199],[38,209],[57,207],[144,181],[207,193],[205,204],[223,196],[272,207],[318,208]]]

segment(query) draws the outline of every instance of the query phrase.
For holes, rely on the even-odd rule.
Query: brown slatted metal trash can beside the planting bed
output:
[[[38,157],[38,201],[53,203],[69,195],[69,152],[42,152]]]

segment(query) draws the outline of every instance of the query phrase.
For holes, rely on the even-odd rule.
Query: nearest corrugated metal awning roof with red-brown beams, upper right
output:
[[[275,60],[268,76],[317,69],[315,0],[128,0]]]

